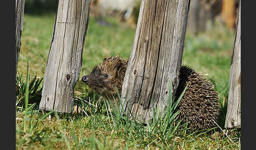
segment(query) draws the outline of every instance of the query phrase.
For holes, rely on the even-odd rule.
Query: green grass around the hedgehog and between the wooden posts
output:
[[[152,124],[139,124],[110,112],[81,81],[75,87],[75,104],[82,113],[60,114],[38,111],[43,78],[52,38],[55,14],[25,14],[22,46],[17,68],[16,149],[239,149],[239,130],[212,139],[211,131],[192,132],[185,125],[173,126],[168,118],[154,118]],[[85,38],[80,78],[90,73],[106,55],[129,58],[135,29],[106,18],[110,26],[90,18]],[[229,70],[234,33],[215,26],[198,36],[186,35],[183,63],[205,75],[220,96],[218,124],[223,128],[229,92]],[[29,67],[27,67],[27,58]],[[26,79],[29,73],[29,79]],[[29,86],[28,84],[29,83]],[[27,85],[27,86],[26,86]],[[26,93],[26,89],[28,90]],[[171,93],[171,92],[170,92]],[[28,102],[25,109],[25,102]],[[174,105],[174,104],[172,104]],[[170,106],[170,105],[169,105]],[[169,107],[171,110],[171,107]],[[170,111],[171,112],[171,111]],[[171,113],[168,113],[171,115]],[[169,123],[169,124],[166,124]]]

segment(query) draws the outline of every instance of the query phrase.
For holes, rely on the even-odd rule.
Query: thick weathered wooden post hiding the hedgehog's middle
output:
[[[142,0],[133,49],[122,87],[128,116],[151,121],[154,109],[161,116],[179,84],[189,0]],[[122,109],[122,105],[120,106]],[[122,110],[121,110],[122,111]]]

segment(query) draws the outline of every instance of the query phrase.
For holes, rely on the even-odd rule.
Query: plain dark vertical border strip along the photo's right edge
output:
[[[255,143],[255,96],[250,96],[255,93],[255,5],[245,2],[253,1],[241,0],[241,149],[251,149]]]

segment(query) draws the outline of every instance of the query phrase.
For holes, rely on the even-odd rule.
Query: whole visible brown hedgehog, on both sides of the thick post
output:
[[[89,88],[109,99],[114,108],[119,106],[119,93],[122,92],[123,80],[129,59],[119,55],[103,58],[103,62],[95,66],[90,74],[82,77]],[[206,129],[215,126],[219,116],[219,97],[211,81],[204,78],[188,65],[180,69],[180,82],[175,93],[177,100],[186,88],[176,111],[182,123],[188,122],[193,129]]]

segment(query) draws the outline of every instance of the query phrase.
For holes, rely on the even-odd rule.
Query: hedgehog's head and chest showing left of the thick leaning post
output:
[[[93,67],[90,74],[82,77],[82,81],[90,89],[109,99],[114,109],[117,109],[119,106],[117,90],[121,94],[127,64],[128,59],[122,59],[119,55],[105,57],[102,63]]]

